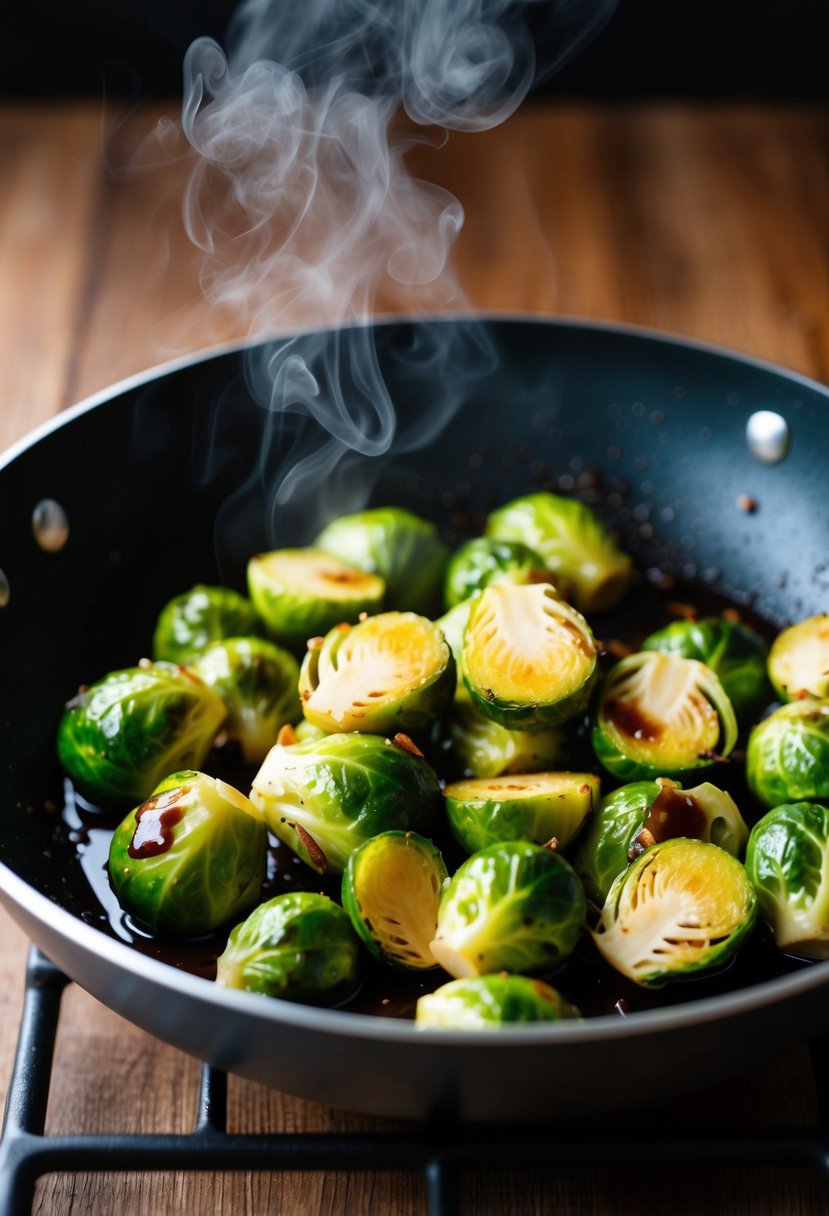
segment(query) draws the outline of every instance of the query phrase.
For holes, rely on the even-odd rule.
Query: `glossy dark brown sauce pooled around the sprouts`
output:
[[[620,608],[613,613],[594,615],[591,618],[591,625],[597,638],[607,647],[603,658],[607,669],[622,647],[638,649],[649,634],[678,615],[705,617],[723,612],[739,612],[739,618],[746,625],[754,627],[767,641],[773,638],[774,629],[748,609],[738,610],[729,601],[697,584],[683,585],[666,579],[658,579],[655,582],[642,580],[628,592]],[[621,647],[617,643],[621,643]],[[743,739],[738,742],[728,761],[700,770],[699,781],[711,781],[727,789],[750,828],[765,809],[756,803],[745,786],[740,750],[743,743]],[[440,773],[440,759],[428,758]],[[577,734],[570,767],[575,771],[599,771],[586,728]],[[205,770],[243,790],[249,788],[254,772],[235,765],[230,749],[214,751],[205,764]],[[614,784],[608,775],[602,772],[603,794],[613,789]],[[698,784],[698,778],[687,778],[686,784]],[[232,925],[194,940],[159,940],[145,933],[119,907],[109,888],[106,865],[109,838],[120,817],[118,814],[113,816],[89,806],[75,795],[71,782],[66,782],[62,827],[74,846],[78,861],[78,865],[72,867],[72,886],[75,901],[83,908],[81,918],[103,933],[128,942],[140,953],[213,980],[216,959],[225,948],[227,933]],[[458,849],[449,833],[446,839],[436,839],[435,843],[441,849],[451,873],[464,860],[466,854]],[[286,845],[271,840],[267,876],[261,893],[263,901],[295,890],[322,891],[339,900],[339,876],[321,877],[314,873]],[[583,936],[566,963],[543,979],[575,1003],[585,1017],[602,1014],[627,1017],[641,1009],[683,1004],[731,992],[810,966],[812,964],[807,959],[779,951],[771,931],[758,923],[751,939],[740,947],[738,956],[727,968],[714,974],[673,981],[658,991],[641,989],[609,967],[588,935]],[[451,978],[440,968],[429,972],[396,970],[371,958],[367,952],[362,955],[361,972],[362,981],[359,991],[340,1008],[388,1018],[413,1018],[418,997]]]

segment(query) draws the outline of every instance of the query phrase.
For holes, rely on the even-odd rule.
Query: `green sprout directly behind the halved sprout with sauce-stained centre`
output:
[[[643,651],[698,659],[714,671],[738,717],[751,716],[769,699],[768,647],[748,625],[722,617],[675,620],[642,643]]]

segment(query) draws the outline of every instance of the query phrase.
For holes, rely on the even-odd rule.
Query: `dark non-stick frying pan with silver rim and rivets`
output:
[[[350,376],[343,407],[353,392],[363,409],[366,351],[395,404],[395,437],[382,455],[348,449],[320,471],[325,394],[299,410],[292,390],[280,412],[252,388],[253,371],[306,355],[316,383],[320,367]],[[829,963],[627,1018],[484,1036],[218,989],[118,940],[96,914],[83,849],[56,810],[53,741],[79,683],[147,652],[169,596],[199,580],[241,587],[250,553],[303,542],[326,511],[366,500],[408,506],[455,539],[540,484],[585,492],[642,572],[711,586],[773,624],[823,610],[828,409],[816,383],[665,336],[456,317],[188,360],[69,411],[0,466],[4,905],[72,979],[153,1035],[284,1092],[380,1115],[551,1120],[652,1103],[824,1030]],[[746,443],[758,410],[788,424],[777,463]],[[356,421],[367,432],[376,422]],[[292,469],[308,475],[286,480]],[[741,495],[756,510],[740,510]],[[44,499],[68,518],[58,551],[33,533]]]

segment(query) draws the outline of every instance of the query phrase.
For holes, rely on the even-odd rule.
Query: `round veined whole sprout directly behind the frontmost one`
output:
[[[559,854],[526,840],[468,857],[440,903],[432,953],[456,979],[549,970],[573,952],[585,891]]]

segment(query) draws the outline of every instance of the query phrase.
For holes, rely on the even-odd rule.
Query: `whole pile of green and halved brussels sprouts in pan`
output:
[[[682,618],[619,657],[588,620],[632,578],[590,508],[537,492],[453,553],[383,507],[254,556],[248,598],[176,596],[152,660],[58,730],[77,789],[134,807],[120,907],[159,938],[230,929],[218,983],[292,1001],[348,1002],[366,955],[442,968],[424,1028],[580,1017],[553,986],[576,947],[643,989],[712,972],[757,913],[829,957],[829,617],[771,652],[735,613]],[[750,832],[704,779],[738,741]],[[204,771],[216,748],[247,793]],[[269,838],[339,897],[261,902]]]

